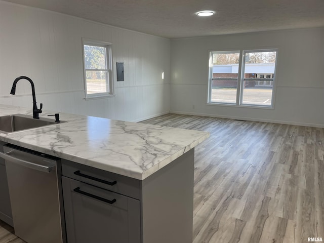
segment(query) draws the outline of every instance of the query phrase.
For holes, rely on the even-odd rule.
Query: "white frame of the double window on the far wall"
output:
[[[213,78],[213,54],[214,53],[237,53],[239,52],[239,64],[238,64],[238,77],[237,77],[237,90],[236,90],[236,103],[223,103],[223,102],[213,102],[212,99],[212,84],[213,80],[217,78]],[[273,77],[271,78],[245,78],[245,53],[247,52],[276,52],[276,61],[274,66],[274,73]],[[264,109],[273,109],[274,108],[274,98],[276,93],[276,68],[277,68],[277,61],[278,61],[278,49],[277,48],[271,48],[271,49],[251,49],[251,50],[240,50],[240,51],[210,51],[209,52],[209,84],[208,84],[208,101],[207,104],[209,105],[225,105],[225,106],[237,106],[237,107],[251,107],[251,108],[264,108]],[[236,79],[236,78],[222,78],[222,79]],[[271,96],[271,105],[257,105],[257,104],[243,104],[243,86],[245,80],[271,80],[273,81],[272,86],[272,96]]]

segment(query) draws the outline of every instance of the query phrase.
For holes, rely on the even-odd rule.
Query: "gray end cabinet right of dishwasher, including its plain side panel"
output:
[[[192,243],[193,165],[136,180],[62,159],[67,243]]]

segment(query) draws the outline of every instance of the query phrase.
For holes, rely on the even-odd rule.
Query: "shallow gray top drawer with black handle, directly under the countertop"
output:
[[[62,159],[62,175],[140,199],[140,181]]]

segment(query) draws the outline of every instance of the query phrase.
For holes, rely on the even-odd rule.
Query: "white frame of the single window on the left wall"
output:
[[[104,47],[106,49],[106,69],[86,69],[85,62],[85,46],[96,46],[96,47]],[[82,39],[82,53],[83,53],[83,66],[84,66],[84,85],[85,85],[85,99],[93,99],[93,98],[103,98],[103,97],[112,97],[114,96],[113,89],[113,75],[112,75],[112,54],[111,54],[111,43],[95,41],[93,39]],[[101,93],[93,93],[88,94],[87,91],[87,74],[88,70],[98,70],[98,71],[107,71],[108,80],[106,86],[109,88],[109,92],[101,92]]]

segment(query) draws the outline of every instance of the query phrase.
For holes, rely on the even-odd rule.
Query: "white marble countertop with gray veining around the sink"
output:
[[[32,116],[31,109],[0,104],[0,116],[16,113]],[[208,132],[56,113],[67,123],[0,133],[0,140],[144,180],[209,137]],[[54,112],[39,116],[48,114]]]

